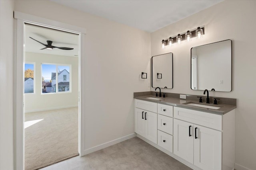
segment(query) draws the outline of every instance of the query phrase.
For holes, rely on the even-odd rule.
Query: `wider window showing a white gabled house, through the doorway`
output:
[[[56,75],[58,72],[58,75]],[[42,93],[70,91],[70,66],[42,64]]]

